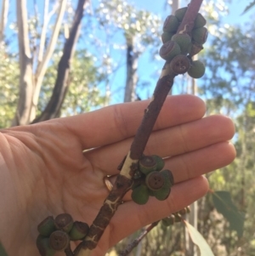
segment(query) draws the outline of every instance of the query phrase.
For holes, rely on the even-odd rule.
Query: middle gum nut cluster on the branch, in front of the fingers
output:
[[[165,169],[160,156],[143,156],[139,160],[139,172],[142,174],[139,184],[133,185],[132,199],[138,204],[148,202],[150,196],[162,201],[167,199],[173,186],[173,174]]]

